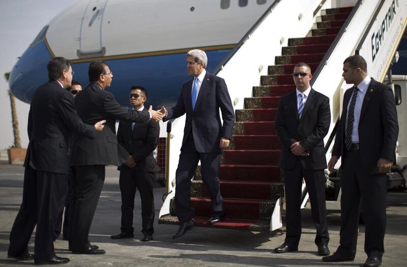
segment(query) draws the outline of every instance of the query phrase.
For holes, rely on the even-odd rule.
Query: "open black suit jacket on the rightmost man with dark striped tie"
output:
[[[343,96],[342,115],[336,132],[332,155],[343,156],[345,149],[345,118],[353,87]],[[374,172],[379,158],[394,161],[398,121],[394,94],[390,87],[372,78],[363,99],[359,119],[359,149],[363,167]]]

